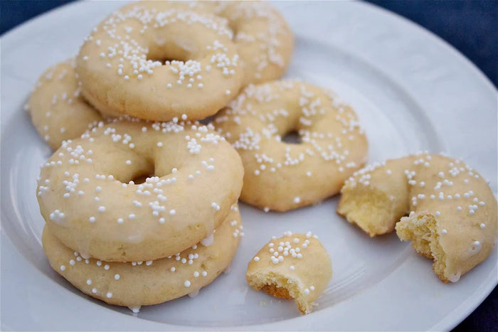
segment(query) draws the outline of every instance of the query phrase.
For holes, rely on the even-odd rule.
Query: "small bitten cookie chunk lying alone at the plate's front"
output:
[[[250,287],[281,299],[295,299],[303,314],[312,311],[332,278],[332,261],[312,232],[273,238],[248,264]]]

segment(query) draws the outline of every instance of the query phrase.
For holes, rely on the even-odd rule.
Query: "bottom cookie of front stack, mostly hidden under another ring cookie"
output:
[[[141,262],[103,262],[83,257],[43,230],[43,250],[51,267],[83,293],[138,311],[210,284],[230,264],[240,241],[242,223],[236,205],[216,228],[213,242],[198,243],[171,257]]]

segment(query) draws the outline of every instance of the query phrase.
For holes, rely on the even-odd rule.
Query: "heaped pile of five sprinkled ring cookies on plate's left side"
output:
[[[111,14],[44,73],[28,111],[57,149],[37,189],[53,269],[134,311],[212,282],[243,235],[243,164],[197,120],[280,77],[291,51],[266,3],[150,1]]]

